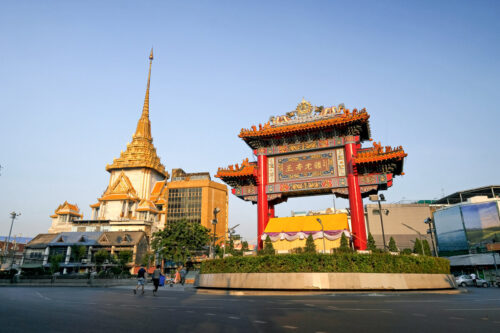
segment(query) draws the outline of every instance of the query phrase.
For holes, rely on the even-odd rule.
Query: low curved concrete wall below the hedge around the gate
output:
[[[396,273],[219,273],[200,274],[196,287],[256,290],[455,289],[450,274]]]

